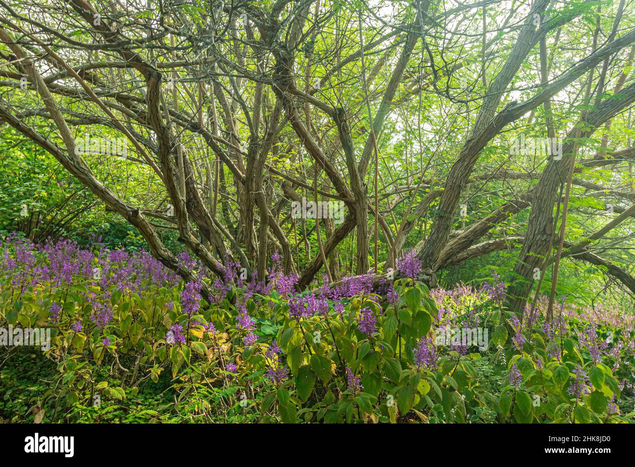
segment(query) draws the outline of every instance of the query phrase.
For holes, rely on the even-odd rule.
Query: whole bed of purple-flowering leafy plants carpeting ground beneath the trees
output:
[[[1,248],[3,325],[51,331],[47,349],[3,356],[10,421],[635,419],[632,317],[563,297],[552,321],[544,302],[521,319],[505,310],[497,274],[431,294],[410,253],[394,282],[370,274],[298,293],[277,254],[266,282],[243,281],[231,263],[214,278],[180,255],[215,291],[207,302],[200,283],[145,252],[15,236]],[[17,371],[27,366],[37,371]]]

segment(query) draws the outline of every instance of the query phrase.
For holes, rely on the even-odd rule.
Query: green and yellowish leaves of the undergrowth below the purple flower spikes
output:
[[[594,362],[591,344],[577,338],[587,330],[583,320],[563,321],[556,334],[544,323],[516,330],[514,315],[483,292],[464,289],[458,301],[436,293],[433,300],[423,283],[410,279],[395,281],[392,301],[358,294],[342,299],[338,311],[338,302],[329,301],[328,313],[311,316],[290,313],[288,299],[275,291],[250,296],[234,287],[216,303],[201,300],[199,311],[188,316],[180,287],[112,289],[112,320],[100,328],[91,325],[91,288],[89,281],[26,288],[18,299],[10,278],[5,280],[0,319],[7,324],[47,325],[52,302],[61,302],[62,312],[49,324],[50,349],[9,350],[0,369],[6,388],[1,417],[25,422],[39,412],[38,421],[51,422],[632,421],[632,414],[611,409],[613,403],[628,405],[618,378],[629,376],[615,363],[634,363],[623,345],[632,339],[632,328],[599,327],[599,339],[613,336],[618,353]],[[246,331],[233,324],[241,303],[254,317],[255,344],[245,345]],[[361,313],[368,311],[377,324],[370,335],[359,327]],[[73,327],[77,320],[81,331]],[[168,339],[178,323],[184,324],[183,342]],[[425,338],[446,325],[487,329],[491,339],[484,348],[468,342],[464,349],[430,339],[438,358],[418,360]],[[554,345],[560,355],[551,355]],[[23,366],[30,370],[20,372]],[[514,369],[519,381],[512,384],[508,375]],[[588,379],[580,394],[572,394],[580,369]]]

